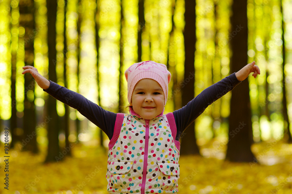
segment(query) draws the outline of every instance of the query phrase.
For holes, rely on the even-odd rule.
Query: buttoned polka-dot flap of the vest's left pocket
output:
[[[132,166],[132,160],[110,160],[109,172],[112,174],[125,174],[130,171]]]

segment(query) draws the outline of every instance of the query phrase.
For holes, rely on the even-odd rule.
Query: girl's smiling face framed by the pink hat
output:
[[[153,79],[142,79],[135,85],[130,106],[144,119],[152,119],[164,109],[164,93]]]

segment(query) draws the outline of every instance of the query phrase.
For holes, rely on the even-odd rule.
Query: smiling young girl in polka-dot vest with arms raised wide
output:
[[[144,61],[125,72],[129,113],[102,109],[82,95],[25,66],[36,83],[55,99],[77,109],[110,139],[106,178],[109,193],[177,193],[180,135],[208,105],[260,69],[255,62],[202,91],[183,108],[163,114],[171,74],[164,64]]]

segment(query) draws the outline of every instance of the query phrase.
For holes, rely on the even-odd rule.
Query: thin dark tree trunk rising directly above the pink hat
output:
[[[142,29],[145,25],[144,0],[139,0],[138,9],[139,26],[141,26],[140,30],[138,29],[138,62],[140,62],[142,61]]]

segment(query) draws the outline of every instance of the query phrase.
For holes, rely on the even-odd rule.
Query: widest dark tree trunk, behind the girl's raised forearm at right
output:
[[[234,1],[231,17],[231,73],[247,64],[247,1]],[[251,152],[251,105],[248,79],[232,90],[229,116],[229,142],[226,159],[234,162],[252,162]]]

